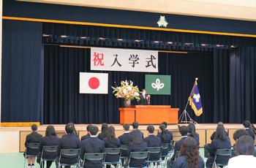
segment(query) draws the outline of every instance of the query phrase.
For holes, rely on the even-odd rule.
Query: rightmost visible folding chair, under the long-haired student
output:
[[[227,163],[228,163],[228,160],[230,159],[230,156],[231,156],[231,153],[232,153],[232,149],[218,149],[216,154],[215,154],[215,157],[214,157],[214,164],[212,164],[212,168],[214,167],[225,167],[227,166]],[[222,157],[225,158],[222,163],[217,163],[217,157]]]

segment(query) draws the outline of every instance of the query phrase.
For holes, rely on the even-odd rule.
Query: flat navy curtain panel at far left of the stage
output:
[[[40,121],[42,58],[42,23],[3,20],[1,121]]]

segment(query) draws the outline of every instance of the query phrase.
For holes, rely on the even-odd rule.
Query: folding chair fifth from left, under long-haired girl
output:
[[[105,161],[103,164],[105,165],[111,165],[111,164],[118,164],[121,166],[121,148],[105,148]],[[116,158],[116,161],[106,161],[108,159],[108,156],[118,156]]]

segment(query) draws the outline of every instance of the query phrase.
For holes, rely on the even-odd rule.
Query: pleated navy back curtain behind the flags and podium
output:
[[[122,100],[112,94],[116,81],[132,80],[144,88],[143,72],[108,72],[108,94],[80,94],[79,72],[90,71],[90,50],[45,45],[44,123],[118,123]],[[171,96],[152,96],[152,104],[170,104],[183,110],[190,90],[199,77],[204,113],[195,118],[200,123],[213,122],[214,66],[211,53],[159,53],[159,74],[172,75]],[[136,102],[133,102],[136,103]]]

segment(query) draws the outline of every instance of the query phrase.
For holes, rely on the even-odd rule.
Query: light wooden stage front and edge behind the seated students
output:
[[[101,128],[100,124],[96,124]],[[48,125],[42,125],[38,127],[38,132],[42,135],[45,135],[45,129]],[[64,127],[65,125],[53,125],[55,126],[57,135],[61,137],[65,134]],[[86,132],[86,124],[75,124],[75,129],[78,131],[79,137],[82,137]],[[123,134],[122,126],[119,124],[109,124],[109,126],[114,126],[116,129],[116,136]],[[155,134],[158,131],[158,125],[155,126]],[[148,132],[146,131],[146,125],[140,125],[139,129],[143,131],[144,136],[148,136]],[[196,126],[196,131],[200,135],[200,147],[203,147],[206,143],[211,142],[211,134],[215,131],[217,127],[217,123],[199,123]],[[225,124],[225,129],[227,130],[232,145],[234,144],[233,133],[237,129],[243,129],[242,124],[233,124],[227,123]],[[132,126],[130,127],[132,129]],[[181,135],[178,133],[178,125],[168,125],[167,129],[173,132],[173,140],[179,140]],[[25,127],[0,127],[0,153],[17,153],[23,152],[25,150],[24,142],[26,139],[26,135],[31,132],[29,126]]]

